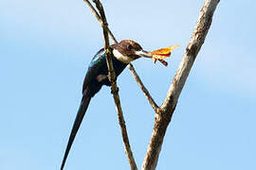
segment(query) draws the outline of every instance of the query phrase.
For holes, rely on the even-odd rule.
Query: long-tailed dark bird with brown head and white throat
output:
[[[119,43],[112,44],[109,46],[109,49],[117,77],[131,61],[141,57],[152,58],[153,56],[151,52],[143,50],[137,42],[132,40],[123,40]],[[87,73],[83,79],[82,100],[65,148],[61,170],[64,169],[64,163],[79,127],[81,126],[82,119],[89,106],[91,98],[101,90],[103,85],[111,86],[111,82],[108,79],[105,50],[104,48],[101,48],[91,60]]]

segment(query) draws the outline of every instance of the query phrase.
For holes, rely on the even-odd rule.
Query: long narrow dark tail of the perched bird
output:
[[[61,166],[61,170],[64,169],[64,163],[66,161],[66,158],[68,156],[68,153],[69,153],[69,150],[71,148],[71,145],[73,144],[74,142],[74,139],[76,137],[76,134],[78,132],[78,129],[82,123],[82,118],[88,108],[88,105],[90,103],[90,100],[91,100],[91,96],[89,95],[88,92],[84,92],[83,95],[82,95],[82,101],[81,101],[81,105],[80,105],[80,108],[78,110],[78,113],[77,113],[77,117],[75,119],[75,122],[73,124],[73,127],[72,127],[72,131],[70,133],[70,136],[69,136],[69,139],[68,139],[68,143],[66,145],[66,148],[65,148],[65,152],[64,152],[64,160],[62,162],[62,166]]]

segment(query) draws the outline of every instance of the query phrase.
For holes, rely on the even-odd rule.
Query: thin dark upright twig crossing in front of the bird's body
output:
[[[119,88],[117,86],[117,81],[116,81],[116,74],[114,72],[114,67],[111,59],[111,52],[109,50],[109,39],[108,39],[108,24],[106,21],[104,9],[101,5],[100,0],[93,0],[93,2],[96,4],[96,7],[99,9],[100,14],[101,14],[101,26],[103,28],[103,35],[104,35],[104,41],[105,41],[105,53],[106,53],[106,61],[107,61],[107,67],[108,67],[108,78],[109,81],[111,82],[111,91],[113,93],[113,97],[116,103],[116,110],[118,112],[119,116],[119,126],[121,128],[121,134],[122,134],[122,139],[123,143],[125,145],[125,152],[128,157],[130,166],[132,170],[137,170],[137,164],[133,156],[133,152],[131,149],[131,146],[129,144],[129,139],[128,139],[128,134],[123,118],[123,113],[121,110],[121,105],[120,105],[120,99],[119,99]]]

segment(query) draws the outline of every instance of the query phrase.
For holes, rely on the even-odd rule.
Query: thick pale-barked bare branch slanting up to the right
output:
[[[212,21],[212,15],[219,1],[220,0],[205,0],[197,25],[193,30],[191,41],[189,42],[183,59],[180,62],[179,68],[174,76],[173,83],[167,93],[167,97],[160,107],[159,114],[155,114],[155,127],[142,164],[142,170],[155,170],[164,135],[169,123],[171,122],[179,94],[181,93],[186,79],[190,74],[193,61],[205,41]]]

